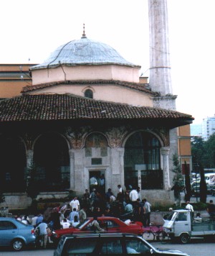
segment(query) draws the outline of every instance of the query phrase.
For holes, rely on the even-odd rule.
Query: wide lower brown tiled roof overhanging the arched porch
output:
[[[96,101],[72,94],[24,95],[0,101],[0,122],[69,119],[193,120],[177,111]]]

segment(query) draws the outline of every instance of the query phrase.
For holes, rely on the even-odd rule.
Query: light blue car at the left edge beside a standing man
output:
[[[13,218],[0,217],[0,246],[11,246],[20,251],[35,243],[34,227]]]

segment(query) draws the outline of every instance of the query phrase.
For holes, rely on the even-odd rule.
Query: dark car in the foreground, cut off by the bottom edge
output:
[[[73,234],[59,240],[54,256],[69,255],[183,255],[178,250],[159,250],[136,234]]]

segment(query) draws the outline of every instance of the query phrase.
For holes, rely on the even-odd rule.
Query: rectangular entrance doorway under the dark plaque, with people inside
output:
[[[90,192],[92,188],[105,193],[105,170],[90,170]]]

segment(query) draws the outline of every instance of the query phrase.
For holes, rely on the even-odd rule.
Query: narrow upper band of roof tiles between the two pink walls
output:
[[[128,82],[122,82],[122,81],[114,81],[114,80],[96,80],[96,81],[91,81],[91,80],[86,80],[86,81],[59,81],[59,82],[54,82],[54,83],[43,83],[43,84],[39,84],[36,86],[25,86],[24,88],[22,88],[22,93],[27,93],[29,91],[36,91],[38,89],[42,89],[42,88],[48,88],[48,87],[52,87],[52,86],[59,86],[59,84],[67,84],[67,85],[74,85],[74,84],[78,84],[78,85],[104,85],[104,84],[115,84],[118,86],[124,86],[126,88],[131,88],[137,91],[143,91],[145,93],[150,93],[151,95],[156,95],[156,93],[152,92],[150,89],[145,88],[146,85],[145,83],[128,83]]]

